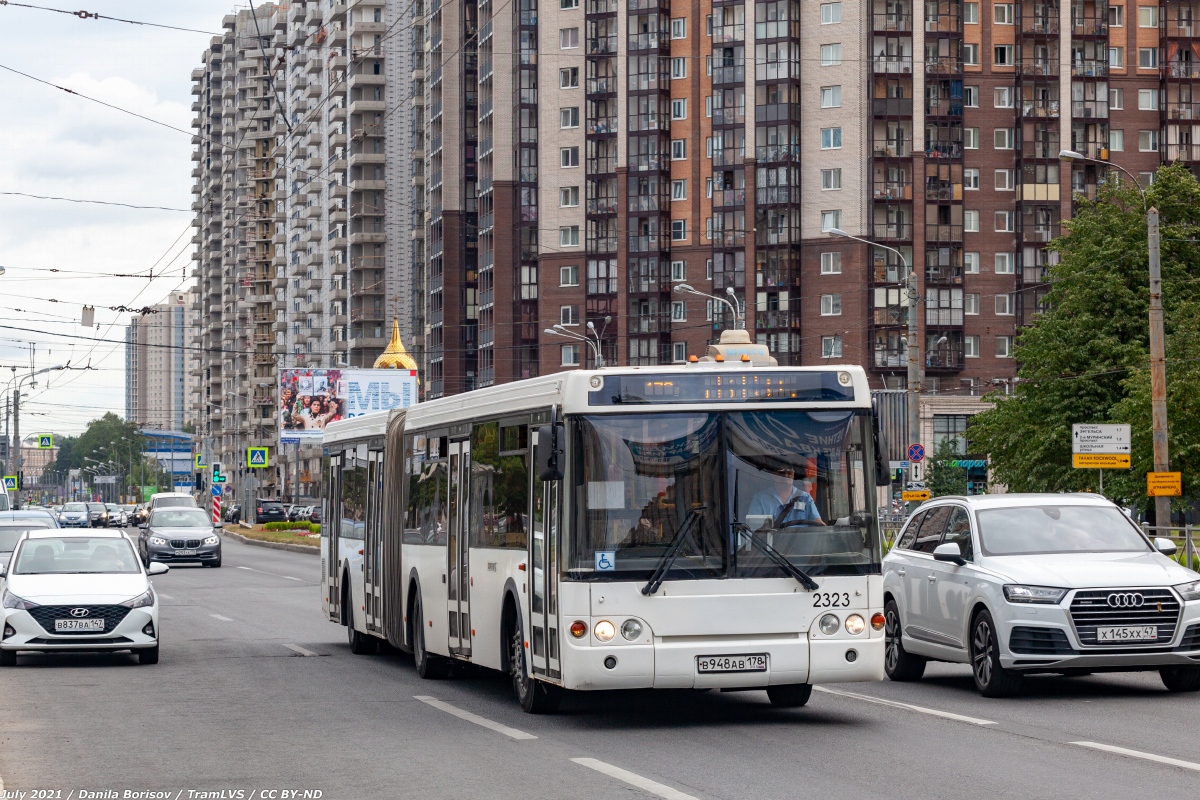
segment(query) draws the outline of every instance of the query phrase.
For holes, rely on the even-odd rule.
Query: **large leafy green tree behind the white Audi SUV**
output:
[[[1169,366],[1170,403],[1183,414],[1195,401],[1183,398],[1183,385],[1171,385],[1170,375],[1196,356],[1190,327],[1200,308],[1200,184],[1182,166],[1164,167],[1146,190],[1146,203],[1162,219],[1168,347],[1175,360]],[[996,407],[972,420],[968,435],[990,456],[996,480],[1010,489],[1073,492],[1094,489],[1098,476],[1072,467],[1072,425],[1129,422],[1135,443],[1132,474],[1112,474],[1110,480],[1106,473],[1105,489],[1145,507],[1145,473],[1152,462],[1148,444],[1138,446],[1150,441],[1142,199],[1132,185],[1112,181],[1094,200],[1076,198],[1076,204],[1075,218],[1063,224],[1067,234],[1049,247],[1058,264],[1049,267],[1044,311],[1018,336],[1020,371],[1013,393],[989,396]],[[1025,308],[1034,307],[1033,296],[1022,301]],[[1182,425],[1172,431],[1180,438],[1172,446],[1181,455],[1189,452],[1200,444],[1194,433],[1194,426]],[[1186,499],[1194,492],[1186,487]]]

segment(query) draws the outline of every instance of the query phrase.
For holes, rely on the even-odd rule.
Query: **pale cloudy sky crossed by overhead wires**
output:
[[[46,5],[221,31],[233,0],[42,0]],[[256,6],[258,4],[256,2]],[[0,6],[0,65],[191,131],[191,72],[210,36]],[[190,209],[191,136],[0,70],[0,193]],[[10,366],[71,361],[22,403],[22,433],[78,433],[125,414],[125,325],[112,306],[162,302],[192,284],[191,211],[148,211],[0,194],[0,391]],[[174,243],[173,243],[174,242]],[[148,273],[155,281],[112,277]],[[80,273],[50,273],[47,269]],[[97,327],[82,327],[83,305]],[[12,330],[26,329],[26,330]],[[37,331],[37,332],[30,332]],[[76,337],[76,338],[72,338]],[[89,341],[106,339],[103,342]],[[36,348],[31,355],[30,347]],[[22,373],[18,373],[22,374]],[[46,378],[49,377],[49,380]],[[0,399],[0,414],[2,414]]]

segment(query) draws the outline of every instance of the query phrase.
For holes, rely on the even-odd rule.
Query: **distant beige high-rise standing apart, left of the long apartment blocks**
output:
[[[197,420],[196,303],[193,291],[173,291],[125,329],[125,419],[142,428],[182,431]]]

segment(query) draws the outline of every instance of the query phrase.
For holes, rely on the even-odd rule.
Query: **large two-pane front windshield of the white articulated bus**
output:
[[[870,415],[772,410],[574,420],[569,576],[878,572]]]

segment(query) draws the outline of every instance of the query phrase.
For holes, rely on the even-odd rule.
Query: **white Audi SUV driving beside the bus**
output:
[[[1200,575],[1096,494],[986,494],[922,505],[883,559],[884,669],[970,663],[986,697],[1027,673],[1157,669],[1200,690]]]

